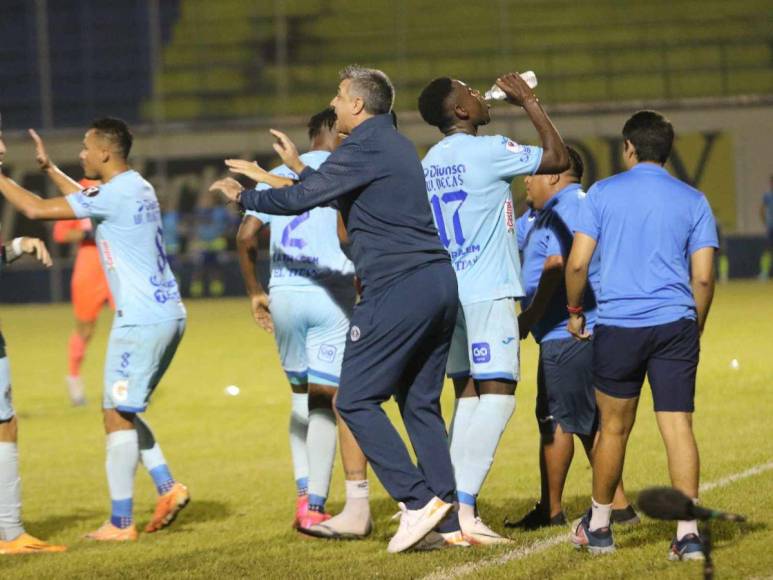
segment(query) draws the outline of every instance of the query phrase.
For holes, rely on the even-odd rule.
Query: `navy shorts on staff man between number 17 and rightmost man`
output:
[[[542,435],[556,425],[564,433],[596,432],[593,343],[561,338],[540,344],[535,414]]]

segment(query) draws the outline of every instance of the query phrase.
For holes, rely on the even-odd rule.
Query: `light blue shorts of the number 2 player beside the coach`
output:
[[[353,308],[353,289],[271,291],[274,337],[290,384],[338,386]]]

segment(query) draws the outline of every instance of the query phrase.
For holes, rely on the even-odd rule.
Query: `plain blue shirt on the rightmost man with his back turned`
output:
[[[576,231],[598,244],[598,324],[635,328],[696,318],[690,256],[719,247],[703,193],[660,165],[639,163],[590,188]]]

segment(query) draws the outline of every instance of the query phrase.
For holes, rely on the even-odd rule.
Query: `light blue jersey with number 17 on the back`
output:
[[[463,133],[445,137],[422,160],[463,305],[523,296],[510,182],[533,174],[541,161],[541,147]]]

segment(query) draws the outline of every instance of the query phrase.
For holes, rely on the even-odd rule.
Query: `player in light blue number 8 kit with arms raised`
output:
[[[86,178],[99,179],[102,185],[81,190],[57,169],[50,175],[62,193],[68,194],[64,197],[41,199],[0,177],[2,194],[30,219],[92,219],[115,298],[103,398],[112,512],[107,522],[87,536],[100,541],[137,539],[133,495],[140,461],[159,494],[146,532],[170,524],[189,501],[187,488],[174,480],[152,431],[139,416],[172,361],[186,315],[164,252],[155,191],[127,163],[132,140],[123,121],[95,121],[86,132],[80,160]]]

